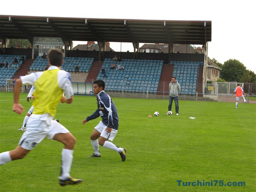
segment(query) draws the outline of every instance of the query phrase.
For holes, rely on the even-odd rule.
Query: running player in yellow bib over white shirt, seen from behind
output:
[[[0,154],[0,165],[4,165],[13,160],[23,159],[45,137],[63,143],[59,176],[61,186],[78,184],[83,181],[70,177],[75,137],[63,125],[53,120],[59,102],[68,104],[73,102],[70,74],[60,70],[63,62],[63,52],[61,50],[49,50],[48,70],[31,73],[16,80],[13,111],[19,115],[24,112],[23,106],[19,103],[20,87],[24,84],[35,85],[35,92],[33,93],[35,96],[34,110],[28,119],[26,131],[20,138],[18,147],[15,150]],[[63,96],[63,92],[65,92],[65,96]]]

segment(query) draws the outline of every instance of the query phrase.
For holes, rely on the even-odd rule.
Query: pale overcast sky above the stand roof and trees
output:
[[[208,57],[222,64],[236,59],[256,72],[255,4],[255,0],[0,0],[0,15],[210,20]]]

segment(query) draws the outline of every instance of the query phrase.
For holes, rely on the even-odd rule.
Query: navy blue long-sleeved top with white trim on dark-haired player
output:
[[[101,116],[104,125],[114,130],[118,130],[119,120],[117,110],[109,95],[104,91],[101,91],[97,94],[96,98],[98,109],[93,113],[93,115],[86,117],[86,120],[94,120]]]

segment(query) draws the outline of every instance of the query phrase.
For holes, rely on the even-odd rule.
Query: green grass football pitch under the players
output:
[[[13,150],[23,132],[31,106],[22,93],[22,115],[12,111],[13,93],[0,92],[0,152]],[[43,140],[23,160],[0,166],[1,192],[252,192],[256,190],[256,105],[179,101],[180,115],[166,115],[168,100],[112,98],[120,126],[113,143],[127,149],[127,159],[100,146],[93,154],[90,134],[100,118],[82,121],[96,110],[92,96],[74,96],[71,105],[59,104],[55,118],[77,142],[71,176],[80,185],[60,187],[60,154],[63,145]],[[153,113],[158,111],[159,117]],[[148,117],[152,115],[153,117]],[[189,117],[196,117],[195,120]],[[212,182],[213,186],[178,186],[183,182]],[[220,186],[235,182],[245,186]],[[192,183],[191,183],[192,184]],[[214,186],[216,185],[216,186]]]

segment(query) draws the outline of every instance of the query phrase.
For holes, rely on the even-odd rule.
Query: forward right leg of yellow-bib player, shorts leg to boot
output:
[[[83,180],[70,177],[71,165],[73,162],[73,152],[75,147],[75,137],[60,123],[52,120],[51,129],[48,132],[48,138],[63,143],[64,148],[61,152],[61,170],[59,183],[61,186],[74,185]]]

